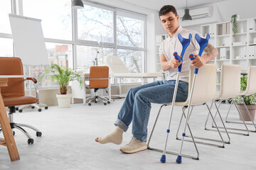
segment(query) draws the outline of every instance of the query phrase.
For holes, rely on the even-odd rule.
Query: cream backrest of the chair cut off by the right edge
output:
[[[256,94],[256,66],[250,66],[247,76],[246,96]]]

